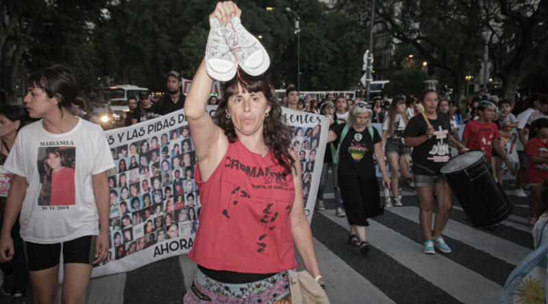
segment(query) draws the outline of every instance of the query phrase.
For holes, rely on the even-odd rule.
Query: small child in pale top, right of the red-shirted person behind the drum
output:
[[[504,150],[506,148],[506,143],[512,138],[512,128],[518,127],[518,119],[511,113],[512,103],[508,99],[499,101],[499,111],[500,113],[495,115],[493,122],[499,127],[499,133],[501,135],[499,145]],[[506,164],[502,163],[501,157],[495,157],[495,174],[497,174],[497,179],[501,185],[503,169],[507,169]]]

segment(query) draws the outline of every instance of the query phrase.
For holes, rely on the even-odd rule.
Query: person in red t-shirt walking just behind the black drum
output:
[[[491,163],[491,152],[495,150],[497,156],[510,167],[510,161],[506,152],[499,145],[499,128],[492,122],[495,118],[495,105],[493,102],[482,101],[477,106],[477,120],[471,120],[464,126],[462,133],[462,146],[469,150],[482,150],[488,163]]]

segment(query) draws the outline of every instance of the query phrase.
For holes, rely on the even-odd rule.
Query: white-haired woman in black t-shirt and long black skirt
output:
[[[366,254],[369,253],[365,238],[367,219],[384,212],[373,156],[382,172],[384,186],[390,184],[390,179],[386,174],[381,137],[371,126],[373,113],[365,102],[356,102],[349,112],[348,122],[329,130],[327,141],[339,143],[335,158],[338,158],[338,183],[350,224],[348,243],[360,247]]]

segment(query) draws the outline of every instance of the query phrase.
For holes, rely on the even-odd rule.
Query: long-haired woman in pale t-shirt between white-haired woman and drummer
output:
[[[399,185],[403,184],[409,177],[411,149],[403,145],[401,138],[407,122],[406,96],[398,95],[393,98],[390,110],[384,118],[381,143],[388,160],[388,167],[390,167],[390,188],[394,197],[394,206],[402,206]],[[390,202],[386,202],[386,207],[390,207],[390,204]]]

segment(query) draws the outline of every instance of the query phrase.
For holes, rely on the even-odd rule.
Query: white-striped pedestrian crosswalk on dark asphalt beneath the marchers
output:
[[[510,197],[514,212],[490,229],[471,225],[456,202],[443,231],[453,252],[426,255],[418,199],[412,189],[403,195],[403,207],[369,219],[369,255],[347,244],[349,225],[336,217],[332,199],[327,210],[314,212],[314,245],[332,303],[495,303],[506,277],[533,249],[527,199]],[[182,303],[195,270],[182,255],[92,279],[87,302]]]

